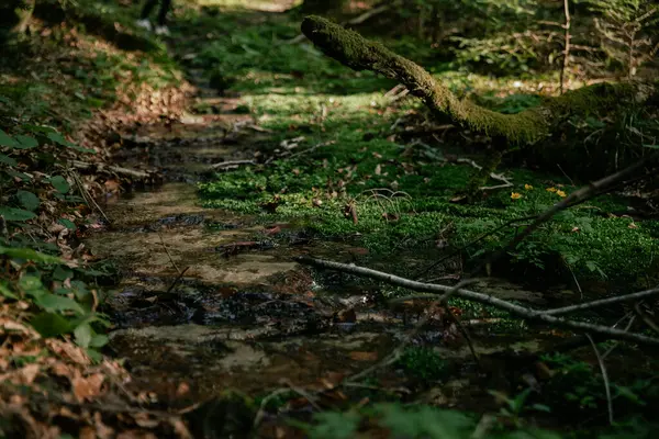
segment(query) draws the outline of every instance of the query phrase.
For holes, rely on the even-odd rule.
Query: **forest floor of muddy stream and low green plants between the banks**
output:
[[[103,353],[123,359],[130,372],[115,391],[120,399],[133,395],[124,409],[135,419],[144,414],[136,424],[147,430],[159,425],[153,418],[169,414],[185,419],[194,437],[217,438],[250,430],[303,437],[300,421],[313,412],[358,413],[370,403],[468,414],[444,419],[440,412],[387,405],[359,412],[371,419],[392,407],[407,420],[418,415],[420,426],[387,425],[410,437],[432,434],[431,418],[444,419],[455,435],[473,431],[479,418],[493,432],[605,424],[606,396],[590,345],[569,356],[556,351],[569,331],[451,300],[470,347],[445,312],[418,325],[427,301],[392,305],[409,293],[293,260],[312,255],[455,284],[528,221],[515,218],[538,214],[579,184],[570,170],[513,157],[490,181],[505,188],[460,202],[488,139],[433,122],[393,82],[349,71],[308,43],[290,44],[299,20],[284,11],[286,4],[256,3],[178,9],[164,43],[191,97],[185,104],[152,102],[150,119],[126,113],[121,123],[97,125],[109,164],[160,180],[127,193],[105,183],[98,203],[107,222],[99,219],[83,239],[94,259],[112,261],[119,272],[101,311],[113,325]],[[551,78],[436,75],[504,112],[537,104],[540,90],[554,90]],[[153,117],[163,109],[176,114]],[[656,279],[645,274],[656,266],[659,226],[648,209],[622,194],[583,203],[493,266],[496,282],[472,288],[555,307],[650,286]],[[395,362],[368,369],[402,347],[406,334],[413,337]],[[652,399],[641,393],[656,391],[648,372],[655,360],[621,345],[610,361],[616,398],[635,402],[618,407],[619,416],[643,414]],[[370,373],[354,379],[365,370]],[[310,435],[353,437],[340,436],[339,427],[359,423],[327,416]],[[176,432],[168,435],[186,437],[185,427],[171,426]],[[373,435],[383,427],[361,425]],[[323,428],[334,432],[323,436]]]

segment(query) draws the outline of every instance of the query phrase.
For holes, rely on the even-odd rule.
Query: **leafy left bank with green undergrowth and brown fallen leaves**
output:
[[[133,19],[116,8],[79,1],[56,26],[34,20],[31,33],[3,42],[0,66],[0,302],[15,307],[44,337],[70,336],[93,359],[107,344],[109,318],[97,311],[115,270],[81,246],[99,226],[69,160],[93,160],[97,145],[71,142],[99,109],[139,87],[171,87],[181,75],[163,46],[125,52],[94,26]],[[41,10],[43,12],[43,10]],[[35,11],[37,13],[38,11]],[[87,20],[94,16],[96,21]],[[38,14],[37,14],[38,18]],[[86,19],[87,18],[87,19]],[[63,22],[60,24],[60,21]],[[119,27],[119,25],[118,25]]]

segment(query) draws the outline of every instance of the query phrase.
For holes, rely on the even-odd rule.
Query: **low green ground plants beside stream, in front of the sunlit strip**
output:
[[[294,108],[291,100],[280,102]],[[334,144],[269,166],[219,175],[215,181],[200,185],[205,205],[297,218],[320,236],[357,239],[380,255],[435,248],[442,241],[465,247],[467,260],[476,260],[521,233],[530,222],[522,218],[541,213],[577,190],[560,177],[510,169],[504,172],[514,181],[513,188],[489,192],[485,200],[473,204],[454,203],[455,193],[472,173],[468,165],[432,160],[432,155],[439,158],[440,150],[396,145],[377,134],[368,139],[364,127],[371,126],[377,133],[381,116],[360,110],[364,101],[355,97],[342,102],[355,105],[354,112],[346,109],[336,120],[328,117],[325,133],[308,135],[298,148],[311,149],[328,139]],[[254,105],[263,109],[265,103]],[[266,126],[281,120],[292,123],[286,113],[273,119],[278,121]],[[293,132],[290,137],[301,134]],[[509,262],[522,271],[538,269],[562,275],[572,271],[579,279],[636,282],[656,268],[657,227],[622,215],[626,210],[623,201],[602,195],[559,213],[511,251]]]

